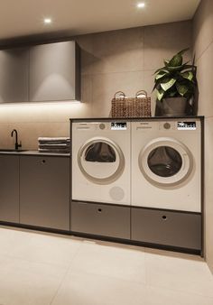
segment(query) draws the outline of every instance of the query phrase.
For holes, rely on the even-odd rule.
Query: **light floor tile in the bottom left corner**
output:
[[[0,303],[48,305],[67,270],[43,263],[0,257]]]

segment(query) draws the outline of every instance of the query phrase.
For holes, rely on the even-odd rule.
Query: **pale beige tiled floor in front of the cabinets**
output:
[[[0,305],[213,305],[199,256],[0,227]]]

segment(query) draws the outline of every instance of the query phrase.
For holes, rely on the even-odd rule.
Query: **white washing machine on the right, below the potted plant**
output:
[[[201,123],[168,118],[132,123],[132,205],[201,210]]]

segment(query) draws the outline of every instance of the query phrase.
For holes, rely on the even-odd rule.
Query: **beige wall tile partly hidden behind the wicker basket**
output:
[[[143,71],[97,74],[93,76],[92,116],[109,116],[111,100],[116,91],[124,91],[127,97],[144,88]]]

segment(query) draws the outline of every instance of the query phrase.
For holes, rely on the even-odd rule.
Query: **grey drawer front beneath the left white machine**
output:
[[[72,202],[71,231],[130,238],[130,208]]]

